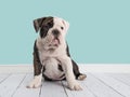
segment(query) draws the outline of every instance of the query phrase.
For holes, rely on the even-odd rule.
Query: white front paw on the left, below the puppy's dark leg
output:
[[[28,85],[27,88],[38,88],[41,86],[41,81],[34,79]]]

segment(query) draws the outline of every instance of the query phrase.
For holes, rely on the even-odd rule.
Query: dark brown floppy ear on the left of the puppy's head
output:
[[[34,20],[34,27],[35,27],[36,32],[39,31],[39,29],[41,28],[42,23],[46,18],[47,17],[42,17],[42,18],[37,18],[37,19]]]

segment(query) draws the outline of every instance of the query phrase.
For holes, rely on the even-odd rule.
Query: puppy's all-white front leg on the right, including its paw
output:
[[[66,80],[68,83],[68,87],[72,91],[80,91],[81,86],[80,84],[76,81],[76,78],[73,72],[73,64],[72,59],[69,57],[64,57],[62,58],[62,67],[65,71]]]

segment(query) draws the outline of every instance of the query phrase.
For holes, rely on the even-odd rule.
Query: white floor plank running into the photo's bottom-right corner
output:
[[[114,88],[116,92],[125,97],[130,97],[130,86],[123,84],[120,81],[115,80],[112,77],[105,75],[103,73],[93,73],[95,78],[100,79],[103,83]]]

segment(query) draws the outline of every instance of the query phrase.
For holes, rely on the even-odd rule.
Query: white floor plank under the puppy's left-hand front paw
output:
[[[39,97],[39,88],[27,88],[27,84],[32,80],[32,74],[28,73],[18,86],[13,97]]]

